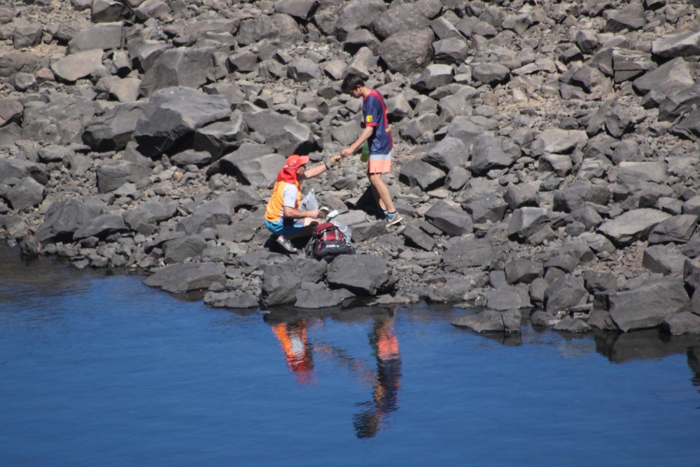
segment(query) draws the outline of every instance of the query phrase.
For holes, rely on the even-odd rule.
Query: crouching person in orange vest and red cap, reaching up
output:
[[[295,154],[287,158],[284,167],[277,174],[277,181],[265,210],[267,230],[277,236],[279,246],[289,253],[297,252],[290,239],[310,237],[320,214],[318,210],[299,210],[302,199],[300,182],[328,171],[335,164],[335,159],[307,169],[308,163],[309,157],[306,155]]]

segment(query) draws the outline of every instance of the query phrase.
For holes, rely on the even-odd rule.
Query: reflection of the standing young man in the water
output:
[[[377,321],[372,326],[370,345],[377,359],[377,379],[372,387],[372,407],[353,417],[358,438],[372,438],[381,428],[381,420],[398,409],[401,356],[392,329],[393,319]]]

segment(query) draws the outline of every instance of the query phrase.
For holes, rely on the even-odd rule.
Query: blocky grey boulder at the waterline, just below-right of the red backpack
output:
[[[328,265],[328,285],[356,295],[379,295],[393,290],[391,266],[379,256],[341,255]]]

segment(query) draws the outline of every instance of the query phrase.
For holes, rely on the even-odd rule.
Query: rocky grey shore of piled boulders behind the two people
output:
[[[216,307],[360,296],[517,333],[700,333],[696,1],[0,1],[0,235]],[[358,157],[308,181],[358,255],[274,248],[292,153],[386,99],[402,225]]]

